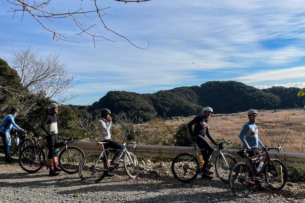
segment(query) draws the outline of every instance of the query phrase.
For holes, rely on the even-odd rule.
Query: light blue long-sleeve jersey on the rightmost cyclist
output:
[[[258,147],[258,145],[263,146],[258,139],[257,126],[251,121],[242,126],[242,130],[239,133],[239,139],[242,141],[243,149],[246,149],[247,146],[251,147],[251,149]]]

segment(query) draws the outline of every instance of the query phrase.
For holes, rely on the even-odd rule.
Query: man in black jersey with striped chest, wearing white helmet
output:
[[[209,176],[213,174],[213,172],[209,171],[206,169],[207,164],[209,162],[209,158],[212,155],[214,149],[210,145],[206,139],[204,139],[204,136],[206,135],[214,145],[217,145],[217,143],[214,141],[212,138],[210,131],[209,131],[209,125],[208,125],[208,118],[212,114],[213,109],[211,107],[205,107],[203,109],[203,115],[196,116],[189,124],[188,124],[188,130],[189,133],[192,137],[192,139],[196,142],[196,144],[199,146],[200,150],[203,156],[203,166],[202,166],[202,173],[203,173],[203,178],[208,178],[212,179],[212,176]],[[194,132],[192,130],[192,126],[194,126]]]

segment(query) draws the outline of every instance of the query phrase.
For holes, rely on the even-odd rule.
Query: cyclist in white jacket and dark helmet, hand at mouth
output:
[[[102,109],[101,117],[97,121],[97,127],[99,131],[99,138],[102,142],[107,142],[104,147],[105,149],[114,148],[117,149],[115,155],[113,156],[110,165],[120,165],[121,163],[117,162],[117,158],[124,151],[124,146],[118,142],[111,140],[110,128],[111,128],[111,117],[109,109]],[[109,156],[109,150],[106,151],[107,158]]]

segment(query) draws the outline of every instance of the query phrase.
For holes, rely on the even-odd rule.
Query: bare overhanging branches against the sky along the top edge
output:
[[[146,2],[146,1],[151,1],[151,0],[130,0],[130,1],[114,0],[114,1],[127,3],[127,2]],[[91,17],[91,14],[94,14],[94,15],[97,15],[99,21],[102,22],[102,24],[106,28],[106,30],[109,30],[110,32],[112,32],[114,34],[125,38],[130,44],[137,47],[135,44],[131,43],[131,41],[128,40],[126,37],[114,32],[113,30],[109,29],[106,26],[105,22],[102,19],[102,16],[107,16],[108,15],[104,11],[107,8],[100,9],[97,5],[97,0],[91,0],[91,2],[86,3],[86,4],[91,5],[91,9],[88,10],[88,11],[84,10],[82,8],[82,4],[80,4],[80,8],[77,9],[76,11],[70,11],[70,9],[67,8],[67,10],[68,10],[67,12],[60,12],[60,11],[58,12],[56,9],[54,9],[54,8],[59,9],[61,6],[50,6],[51,7],[51,9],[50,9],[50,7],[48,7],[48,5],[51,5],[53,3],[52,0],[40,0],[40,1],[39,0],[37,0],[37,1],[35,1],[35,0],[28,0],[28,1],[25,1],[25,0],[7,0],[7,2],[9,2],[10,5],[12,6],[12,7],[10,7],[10,9],[12,9],[12,10],[9,10],[9,12],[14,12],[13,18],[15,16],[16,12],[23,12],[22,19],[23,19],[24,14],[31,15],[35,20],[38,21],[38,23],[41,24],[41,26],[45,30],[48,30],[49,32],[53,33],[53,40],[70,41],[66,37],[64,37],[62,34],[55,31],[54,29],[52,30],[52,28],[48,28],[47,26],[45,26],[46,23],[44,22],[44,19],[49,20],[51,22],[55,22],[55,21],[57,22],[58,19],[62,19],[62,18],[69,19],[71,21],[71,23],[73,23],[75,26],[77,26],[78,29],[80,30],[80,33],[77,33],[76,35],[81,36],[81,34],[83,34],[83,33],[90,35],[93,38],[94,47],[95,47],[95,37],[100,37],[100,38],[104,38],[106,40],[115,42],[115,41],[110,40],[108,38],[97,35],[96,33],[91,33],[89,31],[89,29],[92,28],[93,26],[95,26],[97,22],[95,22],[95,24],[93,24],[91,26],[84,27],[84,25],[78,20],[78,18],[81,18],[82,16],[85,16],[88,19],[93,20],[93,17]],[[83,0],[81,0],[81,2],[83,2]],[[21,21],[22,21],[22,19],[21,19]],[[147,46],[147,48],[148,48],[149,47],[148,40],[147,40],[147,43],[148,43],[148,46]],[[141,47],[137,47],[137,48],[144,49],[144,48],[141,48]]]

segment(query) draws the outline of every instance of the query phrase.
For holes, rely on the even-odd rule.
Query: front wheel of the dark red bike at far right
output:
[[[271,161],[268,162],[265,168],[267,184],[272,190],[281,190],[287,181],[286,167],[278,159],[271,159]]]

